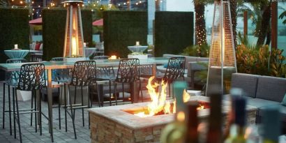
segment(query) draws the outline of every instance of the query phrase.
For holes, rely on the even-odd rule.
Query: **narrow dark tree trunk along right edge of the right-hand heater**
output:
[[[234,35],[234,48],[236,48],[236,45],[237,45],[237,39],[236,39],[237,2],[236,2],[236,0],[229,0],[229,6],[230,6],[230,14],[232,15],[232,33]]]

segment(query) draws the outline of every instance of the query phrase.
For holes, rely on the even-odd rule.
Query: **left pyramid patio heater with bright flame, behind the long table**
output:
[[[82,33],[82,1],[64,1],[67,7],[66,33],[63,47],[63,57],[66,62],[84,60],[84,36]]]

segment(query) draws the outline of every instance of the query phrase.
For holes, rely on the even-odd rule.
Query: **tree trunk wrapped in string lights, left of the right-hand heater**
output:
[[[195,43],[206,43],[206,22],[204,20],[204,3],[194,0],[195,5]]]

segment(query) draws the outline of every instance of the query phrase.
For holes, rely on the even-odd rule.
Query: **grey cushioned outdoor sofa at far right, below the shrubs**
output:
[[[286,106],[281,104],[286,93],[286,78],[234,73],[232,88],[243,89],[244,95],[248,98],[248,105],[257,107],[257,123],[263,118],[261,112],[263,108],[280,107],[283,130],[286,133]]]

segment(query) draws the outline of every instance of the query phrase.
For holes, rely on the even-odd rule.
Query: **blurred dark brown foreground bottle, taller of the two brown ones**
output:
[[[206,143],[221,143],[222,130],[222,96],[220,93],[210,95],[209,130],[206,135]]]

